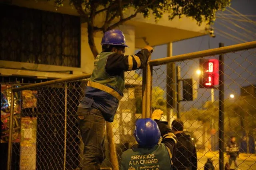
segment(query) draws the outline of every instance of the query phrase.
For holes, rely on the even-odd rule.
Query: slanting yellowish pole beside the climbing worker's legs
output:
[[[106,131],[108,138],[108,149],[110,152],[110,162],[113,166],[113,170],[119,170],[118,159],[116,155],[116,144],[114,142],[113,125],[112,123],[106,122]]]

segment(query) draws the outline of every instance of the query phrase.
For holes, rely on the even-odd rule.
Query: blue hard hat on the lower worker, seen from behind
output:
[[[136,121],[134,136],[140,147],[150,148],[158,144],[161,133],[156,121],[146,118]]]

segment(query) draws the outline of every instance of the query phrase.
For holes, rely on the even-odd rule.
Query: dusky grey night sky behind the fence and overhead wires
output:
[[[215,38],[209,35],[196,37],[184,41],[173,43],[173,56],[185,53],[191,53],[195,51],[202,51],[206,49],[217,48],[220,42],[225,46],[234,45],[238,43],[244,43],[248,41],[256,40],[256,0],[233,0],[231,2],[231,8],[227,8],[224,12],[218,12],[218,17],[231,18],[233,20],[226,20],[217,18],[213,25],[215,31]],[[252,23],[245,22],[245,18],[240,18],[237,10],[243,15],[250,16],[249,19]],[[228,15],[224,15],[228,14]],[[232,16],[230,16],[232,14]],[[236,21],[243,20],[243,21]],[[236,25],[235,25],[236,24]],[[167,56],[167,45],[160,45],[154,48],[154,53],[151,59],[158,59]],[[228,53],[224,56],[224,74],[225,74],[225,98],[228,98],[230,94],[236,96],[240,95],[240,86],[247,86],[250,84],[256,84],[256,50],[241,51],[236,53]],[[218,57],[213,56],[211,58]],[[199,67],[198,59],[184,61],[176,63],[181,66],[182,78],[194,78],[198,80],[196,70]],[[153,86],[160,86],[165,90],[166,82],[166,66],[156,66],[153,68]],[[157,76],[158,75],[158,76]],[[157,78],[158,77],[158,78]],[[218,98],[218,90],[215,91],[215,100]],[[199,89],[198,99],[195,102],[181,102],[184,109],[190,107],[200,107],[206,100],[211,100],[210,89]]]

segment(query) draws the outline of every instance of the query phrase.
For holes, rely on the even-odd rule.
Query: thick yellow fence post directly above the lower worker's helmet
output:
[[[146,76],[146,117],[151,117],[152,66],[147,63]]]

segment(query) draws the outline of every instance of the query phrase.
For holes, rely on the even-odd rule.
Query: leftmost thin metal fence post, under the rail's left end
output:
[[[7,170],[11,169],[12,164],[12,128],[13,128],[13,112],[14,112],[14,92],[11,93],[10,106],[10,120],[9,120],[9,139],[8,139],[8,156],[7,156]]]

